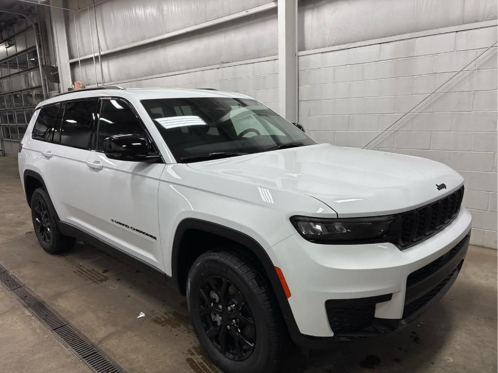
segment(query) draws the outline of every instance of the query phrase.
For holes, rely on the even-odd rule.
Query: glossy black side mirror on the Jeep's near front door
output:
[[[148,141],[140,135],[115,135],[104,140],[104,153],[109,159],[130,162],[157,162],[159,154],[149,153]]]

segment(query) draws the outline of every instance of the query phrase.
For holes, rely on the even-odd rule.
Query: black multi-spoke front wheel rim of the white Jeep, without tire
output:
[[[198,311],[206,335],[216,349],[233,361],[254,351],[256,329],[249,303],[229,280],[211,276],[199,289]]]

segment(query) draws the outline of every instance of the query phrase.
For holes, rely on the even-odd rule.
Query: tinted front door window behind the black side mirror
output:
[[[99,114],[97,150],[103,150],[104,140],[114,135],[135,133],[147,138],[140,121],[128,104],[119,99],[104,99]]]

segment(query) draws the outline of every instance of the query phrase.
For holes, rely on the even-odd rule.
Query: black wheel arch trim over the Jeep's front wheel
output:
[[[287,300],[284,289],[270,257],[256,240],[247,234],[230,227],[196,218],[186,218],[178,224],[173,239],[171,271],[173,281],[181,294],[185,294],[186,277],[188,276],[191,264],[195,261],[195,259],[197,259],[197,257],[199,257],[199,255],[209,250],[208,248],[200,254],[198,252],[194,252],[191,256],[189,256],[189,253],[184,250],[184,245],[186,242],[188,243],[189,231],[195,231],[196,233],[204,232],[208,235],[219,237],[222,240],[225,240],[225,242],[236,243],[239,246],[239,249],[249,249],[250,257],[257,260],[259,269],[263,271],[262,275],[266,276],[270,282],[291,336],[295,335],[296,332],[299,333],[289,301]],[[186,239],[187,241],[185,241]],[[234,250],[238,250],[238,248],[236,247]],[[246,252],[246,254],[248,253]],[[188,260],[185,260],[186,258],[188,258]]]

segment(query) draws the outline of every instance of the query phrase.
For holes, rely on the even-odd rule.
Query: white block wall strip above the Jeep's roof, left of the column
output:
[[[159,78],[121,85],[134,88],[214,88],[221,91],[244,93],[273,110],[277,109],[278,60],[276,57],[193,70],[195,71],[175,72]]]

